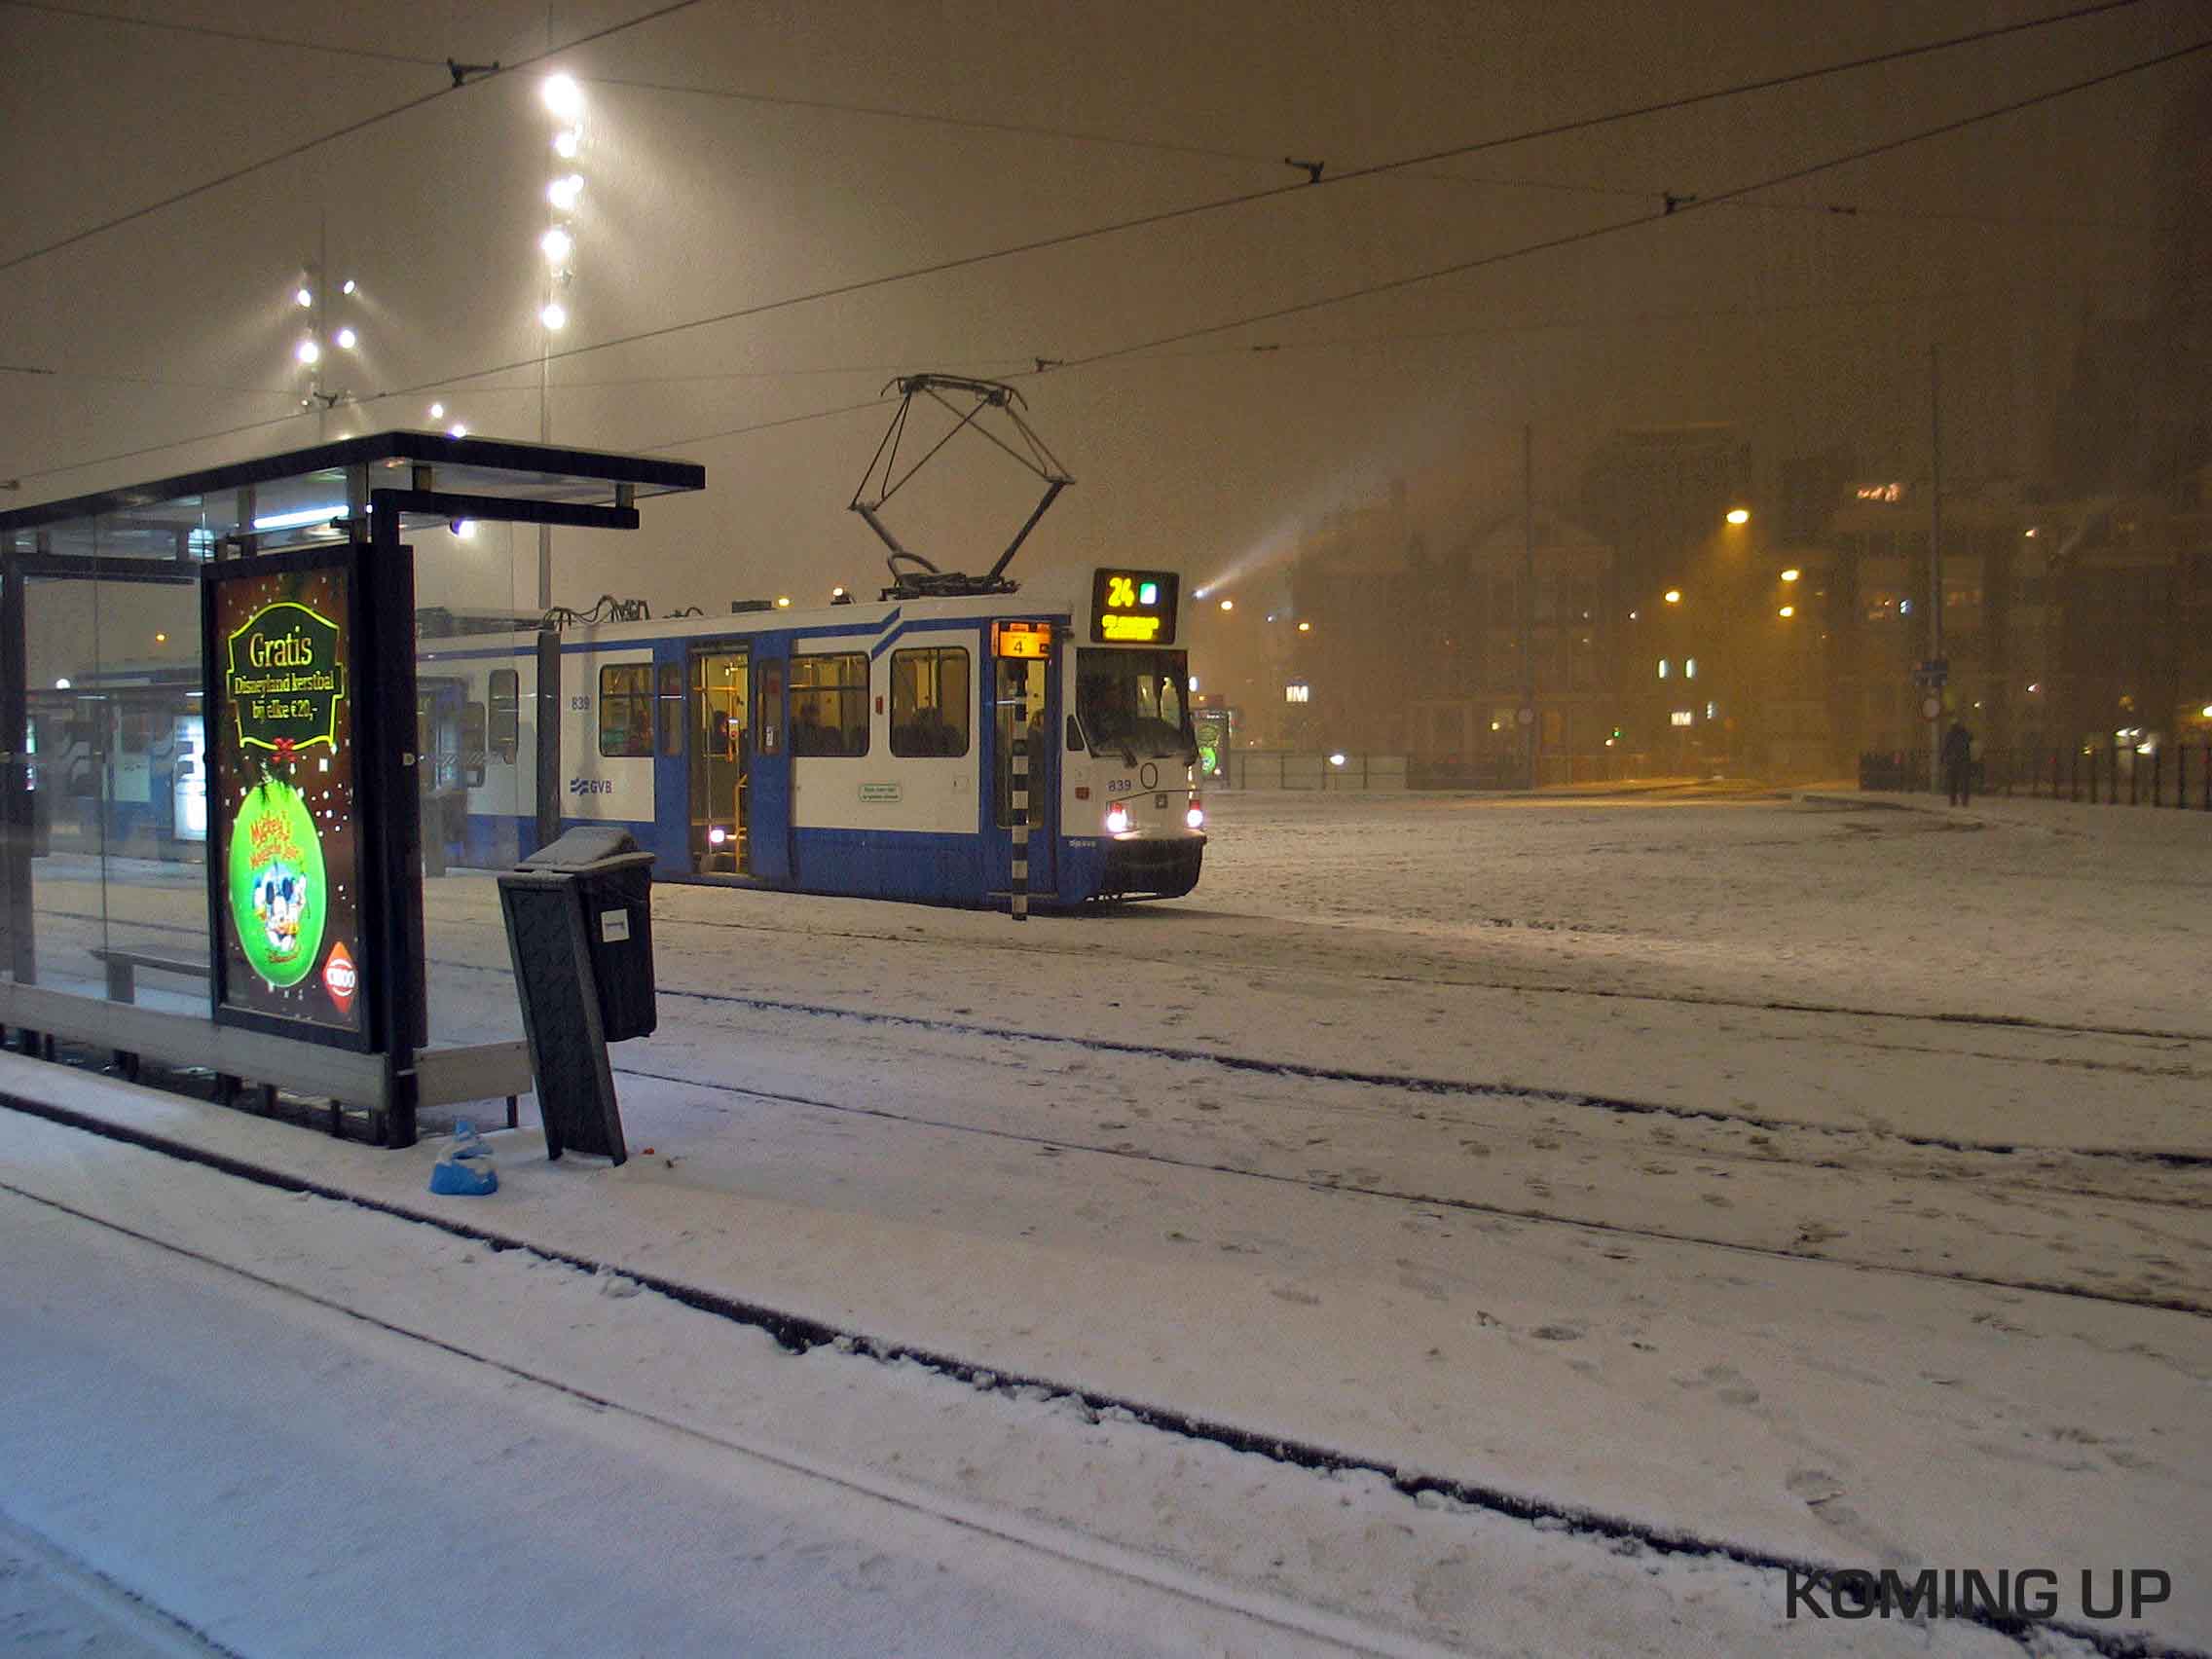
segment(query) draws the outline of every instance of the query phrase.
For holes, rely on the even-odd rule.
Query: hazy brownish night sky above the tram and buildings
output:
[[[1922,465],[1927,347],[1944,349],[1944,467],[2033,471],[2081,319],[2141,312],[2161,126],[2212,100],[2212,53],[1896,155],[1582,246],[1281,321],[1128,347],[1652,215],[2199,40],[2212,9],[2141,0],[1900,64],[1493,148],[1387,177],[1024,252],[750,319],[580,349],[1133,215],[1301,184],[1526,128],[2064,11],[2064,4],[737,4],[703,0],[462,91],[442,60],[546,46],[535,4],[102,0],[95,9],[347,53],[62,15],[0,0],[0,491],[18,507],[248,453],[447,422],[535,438],[540,82],[588,113],[575,279],[555,336],[555,440],[699,460],[708,491],[637,538],[560,533],[557,597],[655,611],[872,588],[845,511],[914,369],[1022,376],[1077,487],[1015,573],[1102,562],[1259,582],[1316,513],[1409,482],[1440,524],[1573,500],[1617,427],[1736,422],[1756,462],[1840,445]],[[571,42],[655,0],[562,4]],[[697,88],[697,91],[675,91]],[[407,100],[296,157],[22,259]],[[2201,155],[2197,166],[2203,166]],[[2172,195],[2168,184],[2168,195]],[[1854,212],[1834,212],[1851,208]],[[292,303],[327,246],[361,283],[361,349],[303,416]],[[2199,243],[2201,246],[2201,243]],[[18,263],[11,263],[18,261]],[[1102,354],[1117,354],[1104,356]],[[1035,374],[1035,358],[1068,367]],[[1084,363],[1084,358],[1102,358]],[[526,365],[484,378],[471,369]],[[22,374],[18,369],[51,369]],[[97,467],[86,458],[292,416]],[[770,429],[765,422],[792,422]],[[1033,482],[947,451],[894,522],[982,568]],[[535,544],[476,549],[456,593],[533,595]],[[440,551],[442,555],[445,551]],[[440,580],[425,571],[425,597]]]

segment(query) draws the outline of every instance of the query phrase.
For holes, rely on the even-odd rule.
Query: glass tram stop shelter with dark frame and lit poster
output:
[[[544,533],[703,484],[385,431],[0,511],[0,1029],[387,1146],[529,1091],[493,883],[447,849],[511,865],[557,810],[553,635],[529,699],[513,668]]]

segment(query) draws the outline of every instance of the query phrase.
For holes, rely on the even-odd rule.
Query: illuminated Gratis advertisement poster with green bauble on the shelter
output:
[[[358,1040],[361,825],[345,564],[215,582],[219,1009]]]

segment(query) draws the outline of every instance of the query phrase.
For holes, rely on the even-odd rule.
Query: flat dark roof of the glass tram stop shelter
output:
[[[500,518],[500,502],[513,502],[515,518],[524,518],[526,504],[628,504],[706,487],[706,467],[686,460],[445,431],[378,431],[0,511],[0,551],[197,562],[223,538],[299,540],[316,513],[345,515],[354,473],[365,493],[387,484],[405,489],[418,467],[431,469],[438,491],[484,498],[493,511],[476,515],[487,520]]]

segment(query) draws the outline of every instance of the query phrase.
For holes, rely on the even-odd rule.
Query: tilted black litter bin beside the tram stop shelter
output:
[[[606,1044],[653,1035],[653,854],[571,830],[500,876],[546,1152],[626,1157]]]

